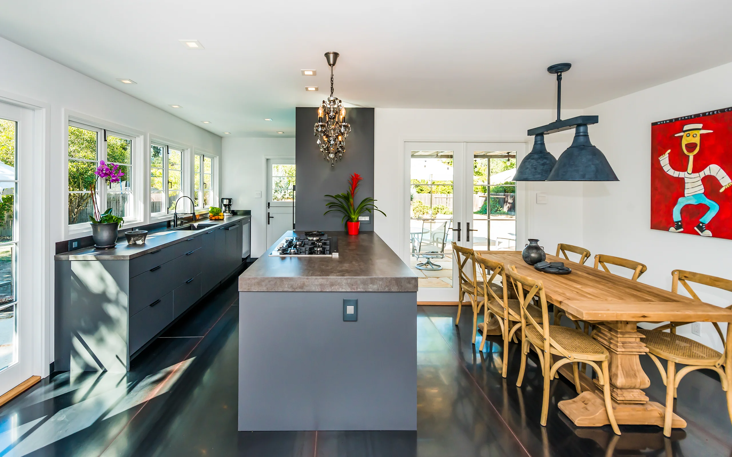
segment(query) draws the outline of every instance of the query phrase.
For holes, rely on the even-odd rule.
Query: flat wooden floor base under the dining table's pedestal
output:
[[[571,400],[559,402],[559,409],[579,427],[600,427],[608,425],[608,413],[605,411],[605,401],[602,393],[586,391]],[[655,401],[646,403],[618,404],[613,401],[613,414],[620,425],[663,426],[665,407]],[[671,427],[684,428],[686,420],[673,415]]]

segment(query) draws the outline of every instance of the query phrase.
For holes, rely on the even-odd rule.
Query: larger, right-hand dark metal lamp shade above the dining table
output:
[[[531,154],[529,154],[531,155]],[[518,173],[517,173],[518,174]],[[575,129],[575,139],[567,151],[561,153],[547,181],[619,181],[608,159],[590,143],[587,126]]]

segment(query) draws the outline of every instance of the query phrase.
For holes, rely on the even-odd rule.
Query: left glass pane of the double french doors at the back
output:
[[[419,287],[452,287],[453,151],[411,151],[410,267]]]

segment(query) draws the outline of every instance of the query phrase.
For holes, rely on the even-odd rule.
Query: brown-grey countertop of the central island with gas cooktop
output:
[[[376,233],[326,234],[337,236],[338,257],[269,257],[289,230],[239,276],[239,291],[417,292],[417,276]]]

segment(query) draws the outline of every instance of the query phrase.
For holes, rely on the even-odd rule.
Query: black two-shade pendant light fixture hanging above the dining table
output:
[[[514,181],[619,181],[608,159],[600,149],[590,143],[587,126],[597,124],[597,116],[577,116],[561,120],[561,74],[572,64],[555,64],[547,69],[556,75],[556,121],[535,129],[528,135],[534,136],[534,148],[523,158]],[[559,160],[548,153],[544,146],[544,135],[575,129],[572,146],[564,151]]]

